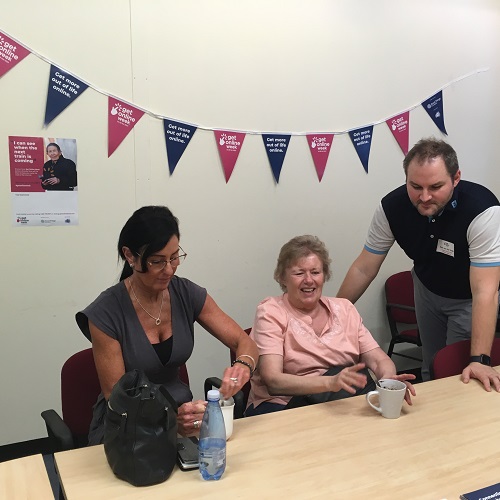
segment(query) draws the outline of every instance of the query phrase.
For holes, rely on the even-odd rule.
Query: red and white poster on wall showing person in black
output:
[[[14,226],[78,224],[76,139],[9,136]]]

